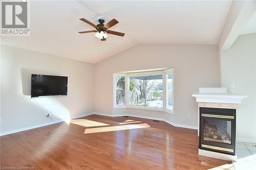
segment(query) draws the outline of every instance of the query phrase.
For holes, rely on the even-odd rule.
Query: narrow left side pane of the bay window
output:
[[[125,105],[125,77],[116,76],[115,77],[115,106]]]

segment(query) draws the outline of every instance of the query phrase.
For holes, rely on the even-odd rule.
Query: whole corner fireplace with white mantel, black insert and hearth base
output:
[[[198,103],[198,154],[236,161],[236,109],[247,96],[225,87],[202,87],[192,96]]]

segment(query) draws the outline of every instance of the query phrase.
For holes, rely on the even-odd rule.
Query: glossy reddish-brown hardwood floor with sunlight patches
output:
[[[231,163],[199,156],[196,130],[137,117],[90,115],[0,140],[2,168],[209,169]]]

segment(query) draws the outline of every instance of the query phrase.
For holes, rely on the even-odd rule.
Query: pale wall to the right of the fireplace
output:
[[[222,86],[248,95],[237,109],[237,137],[256,142],[256,34],[240,35],[229,50],[221,52]],[[236,88],[231,88],[231,82]]]

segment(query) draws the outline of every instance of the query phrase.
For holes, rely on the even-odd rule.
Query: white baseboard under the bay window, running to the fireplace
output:
[[[110,117],[131,116],[131,117],[147,118],[147,119],[164,121],[167,124],[170,124],[170,125],[173,125],[173,126],[179,127],[179,128],[187,128],[187,129],[196,129],[196,130],[198,130],[197,126],[176,124],[176,123],[170,122],[170,120],[167,120],[167,119],[164,119],[164,118],[158,118],[158,117],[141,116],[141,115],[137,115],[137,114],[105,114],[105,113],[98,113],[98,112],[94,112],[93,114],[102,115],[102,116],[110,116]]]

